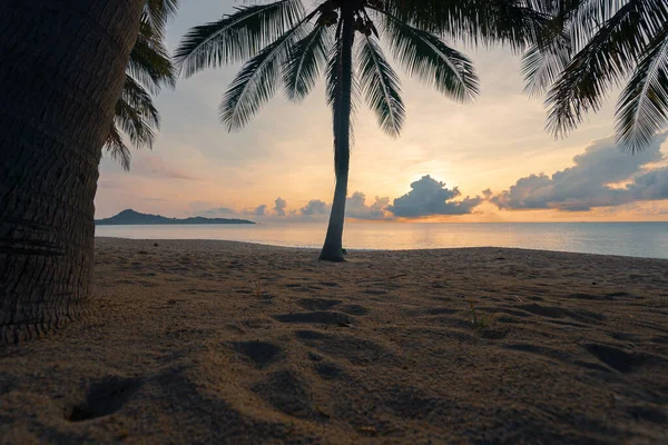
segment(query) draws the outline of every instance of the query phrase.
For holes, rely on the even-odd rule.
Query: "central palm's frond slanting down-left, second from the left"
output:
[[[239,129],[276,91],[281,68],[289,56],[292,46],[304,38],[304,23],[317,11],[298,21],[276,41],[265,47],[244,65],[225,92],[220,103],[220,121],[229,130]]]

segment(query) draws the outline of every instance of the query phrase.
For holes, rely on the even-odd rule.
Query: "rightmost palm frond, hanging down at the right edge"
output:
[[[647,47],[617,103],[617,140],[642,150],[668,123],[668,23]]]

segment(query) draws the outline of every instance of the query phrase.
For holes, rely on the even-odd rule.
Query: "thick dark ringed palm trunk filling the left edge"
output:
[[[0,343],[86,310],[98,164],[144,2],[0,1]]]

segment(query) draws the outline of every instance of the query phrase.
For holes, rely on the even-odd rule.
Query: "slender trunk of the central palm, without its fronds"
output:
[[[351,161],[351,92],[353,78],[353,41],[355,37],[353,10],[341,8],[342,30],[337,67],[337,91],[334,99],[334,170],[336,187],[330,214],[330,225],[320,259],[343,261],[343,222],[347,197],[348,168]]]

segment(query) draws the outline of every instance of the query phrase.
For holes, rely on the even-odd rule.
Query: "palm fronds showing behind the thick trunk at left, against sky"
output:
[[[165,24],[177,9],[177,0],[149,0],[145,4],[137,42],[130,52],[126,81],[116,103],[114,120],[105,144],[105,151],[130,169],[130,150],[122,134],[137,148],[153,148],[155,130],[160,127],[160,115],[151,93],[164,86],[174,87],[176,77],[171,59],[165,48]]]

